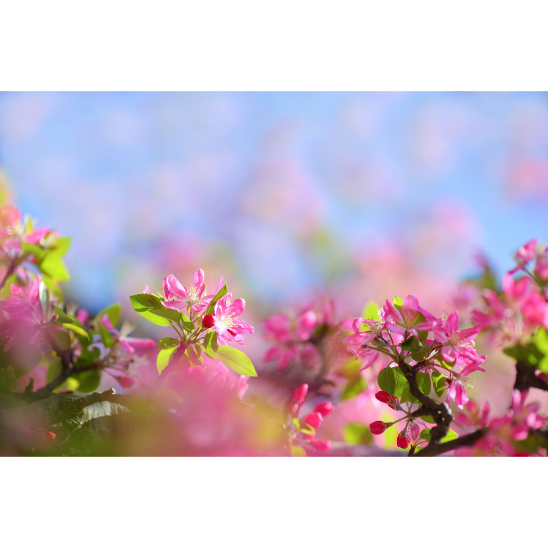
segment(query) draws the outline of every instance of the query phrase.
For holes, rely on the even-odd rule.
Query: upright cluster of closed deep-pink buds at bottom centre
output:
[[[311,413],[299,419],[298,415],[307,393],[308,385],[301,384],[293,392],[289,403],[290,422],[286,425],[286,429],[289,430],[288,437],[292,444],[292,453],[295,447],[299,447],[302,444],[309,444],[317,451],[329,451],[331,449],[331,442],[327,439],[315,439],[315,436],[316,430],[321,426],[323,419],[333,413],[335,406],[329,401],[318,403]],[[295,444],[299,445],[296,446]]]

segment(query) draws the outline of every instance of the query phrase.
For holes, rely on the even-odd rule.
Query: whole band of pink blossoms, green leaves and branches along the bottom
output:
[[[208,290],[202,269],[191,280],[170,273],[131,295],[128,319],[165,332],[135,338],[119,304],[92,314],[65,300],[69,246],[12,204],[0,208],[0,454],[305,456],[380,446],[546,456],[535,394],[548,391],[548,253],[536,240],[516,252],[500,288],[488,267],[469,282],[464,321],[457,310],[432,314],[413,294],[371,301],[360,317],[312,302],[264,319],[269,346],[256,367],[241,350],[256,336],[246,301],[222,277]],[[498,347],[514,364],[503,413],[474,400],[472,378],[496,367]],[[375,420],[347,415],[358,399]]]

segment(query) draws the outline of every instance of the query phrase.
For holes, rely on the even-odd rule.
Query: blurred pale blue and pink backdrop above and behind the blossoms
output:
[[[548,242],[548,95],[3,93],[0,169],[22,213],[72,236],[67,300],[119,301],[164,336],[128,296],[202,268],[246,300],[260,363],[275,312],[333,298],[352,318],[414,293],[439,315],[481,256],[500,280]],[[474,396],[502,410],[498,359]],[[378,418],[371,402],[339,421]]]

